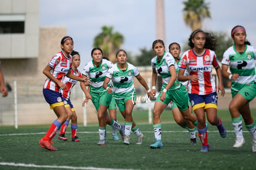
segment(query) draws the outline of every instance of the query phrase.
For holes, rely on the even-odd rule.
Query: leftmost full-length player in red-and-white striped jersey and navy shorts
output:
[[[49,128],[45,137],[41,138],[39,144],[42,148],[52,151],[56,151],[58,149],[53,147],[53,142],[51,142],[51,140],[67,119],[67,112],[64,108],[62,95],[60,93],[60,88],[64,90],[67,88],[67,86],[65,83],[62,83],[61,80],[64,78],[64,75],[67,75],[67,77],[70,79],[88,82],[88,79],[77,77],[72,74],[70,70],[70,53],[73,51],[73,47],[73,39],[70,36],[64,36],[61,40],[62,51],[55,54],[49,64],[43,70],[43,74],[45,74],[47,77],[45,85],[43,86],[43,95],[45,96],[46,102],[49,103],[50,108],[53,109],[54,113],[56,114],[57,119],[53,122],[53,124],[51,124],[51,127]]]

